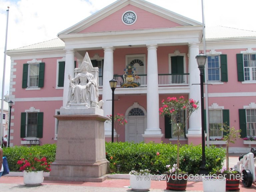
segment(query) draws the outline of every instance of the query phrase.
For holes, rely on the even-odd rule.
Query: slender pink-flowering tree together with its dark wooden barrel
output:
[[[174,164],[172,167],[172,170],[174,169],[176,170],[175,173],[182,172],[179,169],[180,135],[184,131],[190,115],[197,109],[198,109],[198,101],[195,101],[193,99],[185,100],[183,96],[179,97],[179,99],[177,99],[176,97],[168,97],[166,100],[162,100],[162,107],[159,109],[159,114],[161,116],[169,117],[170,124],[176,128],[176,135],[177,135],[177,161],[176,162],[177,164]],[[182,122],[181,113],[184,111],[185,111],[184,122]],[[170,177],[167,172],[166,173],[166,181],[167,181],[166,189],[174,189],[173,187],[172,188],[170,187],[170,182],[172,182],[172,180],[177,180],[177,178]],[[177,181],[173,181],[173,182],[175,183]],[[184,186],[182,189],[180,189],[179,187],[176,188],[176,190],[185,190],[185,189],[186,189],[186,186]]]

